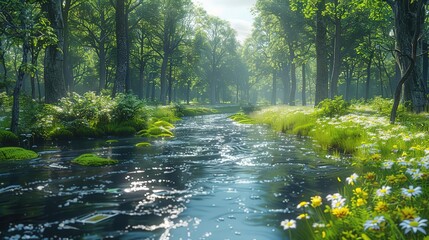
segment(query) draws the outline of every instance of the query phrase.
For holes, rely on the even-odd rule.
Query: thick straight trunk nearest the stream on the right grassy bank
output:
[[[316,96],[315,105],[328,98],[328,54],[326,50],[326,24],[322,12],[325,0],[319,1],[316,12]]]

